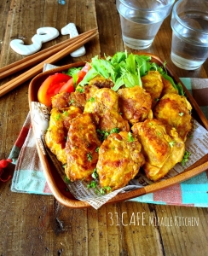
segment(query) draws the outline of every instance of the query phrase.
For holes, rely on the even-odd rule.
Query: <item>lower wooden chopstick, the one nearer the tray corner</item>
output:
[[[32,67],[30,70],[26,71],[25,73],[20,74],[20,76],[18,76],[17,78],[10,80],[6,84],[3,84],[2,86],[0,86],[0,96],[5,95],[10,90],[13,90],[20,84],[26,82],[28,79],[32,79],[32,77],[42,72],[44,63],[52,64],[55,61],[61,60],[61,58],[70,54],[74,50],[80,48],[82,45],[86,44],[92,38],[95,38],[95,36],[97,35],[98,35],[98,32],[91,32],[90,36],[87,34],[82,38],[78,38],[76,42],[68,45],[65,49],[61,49],[61,51],[57,52],[55,55],[50,56],[48,59],[46,59],[45,61],[42,61],[37,66]]]

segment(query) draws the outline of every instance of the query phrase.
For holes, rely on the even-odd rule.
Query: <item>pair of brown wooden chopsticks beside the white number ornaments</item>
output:
[[[0,96],[5,95],[10,90],[13,90],[15,87],[26,82],[28,79],[32,79],[33,76],[37,75],[43,70],[44,63],[52,64],[55,61],[61,60],[61,58],[80,48],[97,35],[97,28],[92,29],[89,32],[84,32],[77,37],[67,39],[60,44],[51,46],[49,49],[43,49],[34,55],[30,55],[25,59],[16,61],[6,67],[1,68],[0,79],[3,79],[9,76],[9,74],[18,72],[26,67],[31,67],[32,65],[37,64],[39,61],[42,61],[37,66],[32,67],[30,70],[20,74],[20,76],[16,77],[15,79],[12,79],[8,83],[0,86]]]

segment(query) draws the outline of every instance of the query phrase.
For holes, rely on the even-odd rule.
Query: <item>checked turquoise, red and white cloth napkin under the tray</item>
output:
[[[182,79],[199,107],[208,118],[208,79]],[[208,136],[207,136],[208,137]],[[208,141],[207,143],[208,144]],[[43,175],[38,151],[32,133],[30,113],[26,118],[20,136],[9,154],[15,166],[11,190],[19,193],[51,195]],[[142,195],[130,201],[189,207],[208,207],[208,171],[188,181]]]

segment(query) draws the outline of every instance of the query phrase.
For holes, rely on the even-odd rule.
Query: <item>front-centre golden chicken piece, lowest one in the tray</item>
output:
[[[99,148],[96,170],[101,187],[110,187],[110,192],[124,187],[143,164],[141,144],[136,137],[127,131],[110,134]]]

